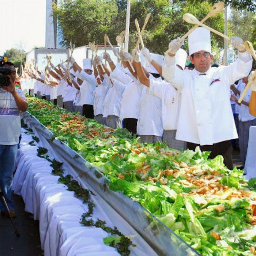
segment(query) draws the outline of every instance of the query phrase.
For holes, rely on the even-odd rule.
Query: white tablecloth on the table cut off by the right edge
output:
[[[244,173],[247,179],[256,177],[256,126],[251,126],[249,130]]]

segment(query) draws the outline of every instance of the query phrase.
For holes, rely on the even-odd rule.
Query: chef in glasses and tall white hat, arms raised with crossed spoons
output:
[[[230,106],[230,84],[249,74],[252,57],[245,51],[239,37],[231,37],[238,49],[238,59],[227,67],[211,68],[210,31],[198,27],[188,37],[189,56],[195,69],[180,70],[175,55],[183,42],[180,38],[169,44],[163,63],[163,77],[181,91],[181,108],[176,139],[187,142],[187,148],[211,151],[210,158],[222,155],[233,169],[231,139],[238,138]]]

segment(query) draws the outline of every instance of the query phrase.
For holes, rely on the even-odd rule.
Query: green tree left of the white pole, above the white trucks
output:
[[[53,4],[53,16],[63,31],[64,46],[71,41],[76,47],[89,41],[103,44],[105,33],[114,34],[117,15],[114,0],[63,0],[59,7]]]

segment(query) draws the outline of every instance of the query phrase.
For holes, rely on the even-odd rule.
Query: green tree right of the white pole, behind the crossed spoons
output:
[[[131,20],[139,18],[139,23],[143,25],[146,14],[148,12],[152,13],[152,17],[146,27],[143,41],[145,41],[145,46],[152,52],[163,54],[165,50],[167,50],[168,44],[172,39],[181,37],[193,27],[193,25],[186,23],[182,19],[183,14],[191,13],[195,15],[197,19],[201,20],[208,14],[211,7],[211,4],[207,1],[191,5],[189,1],[179,1],[178,3],[170,4],[170,1],[167,0],[140,0],[133,2],[131,7]],[[135,11],[132,12],[132,10]],[[208,19],[205,24],[223,33],[223,12]],[[132,42],[134,41],[132,37],[137,38],[137,34],[133,27],[135,27],[135,25],[132,24]],[[211,40],[213,46],[223,48],[223,38],[212,33]],[[185,40],[183,48],[188,50],[187,39]]]

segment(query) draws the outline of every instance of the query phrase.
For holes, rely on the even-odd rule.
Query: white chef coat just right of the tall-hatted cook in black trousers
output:
[[[106,83],[105,79],[101,82],[101,84],[97,84],[94,90],[94,101],[93,101],[93,112],[94,116],[98,114],[103,114],[103,102],[108,93],[109,86]]]

